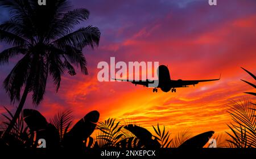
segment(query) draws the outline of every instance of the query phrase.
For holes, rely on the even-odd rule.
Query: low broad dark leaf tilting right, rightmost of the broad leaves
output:
[[[214,134],[214,131],[208,131],[208,132],[204,132],[202,134],[196,135],[191,139],[186,140],[178,148],[203,148],[213,134]]]

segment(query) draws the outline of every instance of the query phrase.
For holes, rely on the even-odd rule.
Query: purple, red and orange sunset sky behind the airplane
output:
[[[101,31],[100,46],[84,49],[89,75],[77,71],[65,75],[59,92],[48,80],[42,104],[35,108],[48,120],[56,113],[72,109],[76,120],[91,110],[98,110],[100,120],[118,118],[149,128],[159,123],[172,134],[183,130],[194,133],[224,132],[231,122],[227,113],[232,100],[255,100],[243,92],[252,87],[240,79],[253,81],[240,67],[256,73],[256,1],[208,0],[160,1],[73,1],[74,8],[90,11],[89,20],[78,27],[94,25]],[[1,8],[0,22],[9,19]],[[0,43],[0,51],[7,48]],[[152,88],[127,82],[99,82],[98,62],[158,61],[168,65],[171,79],[214,79],[195,87],[177,88],[176,93],[153,93]],[[0,83],[18,58],[0,66]],[[3,106],[13,112],[18,103],[10,104],[0,89],[0,113]],[[24,108],[33,108],[31,96]],[[2,117],[0,118],[2,119]]]

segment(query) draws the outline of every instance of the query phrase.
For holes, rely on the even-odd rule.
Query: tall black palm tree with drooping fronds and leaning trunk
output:
[[[47,1],[46,6],[31,0],[1,0],[0,6],[10,10],[10,20],[0,25],[0,41],[12,46],[0,53],[0,65],[17,55],[20,57],[3,83],[11,102],[19,101],[5,131],[8,134],[28,93],[32,92],[35,106],[43,100],[48,75],[52,76],[57,92],[65,72],[76,74],[74,66],[80,67],[82,74],[88,74],[82,48],[97,47],[100,30],[89,25],[72,32],[77,24],[88,19],[89,11],[71,10],[67,0]]]

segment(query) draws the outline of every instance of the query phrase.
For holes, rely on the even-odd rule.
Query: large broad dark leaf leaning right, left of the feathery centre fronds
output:
[[[86,148],[86,141],[96,128],[96,123],[99,118],[100,113],[96,110],[90,111],[90,113],[86,114],[84,118],[80,119],[80,121],[64,135],[64,147]],[[89,138],[89,143],[92,143],[91,140],[92,139]]]

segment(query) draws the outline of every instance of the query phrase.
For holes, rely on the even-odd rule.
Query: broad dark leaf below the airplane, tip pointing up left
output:
[[[146,128],[133,124],[129,124],[124,128],[133,133],[139,139],[140,144],[143,144],[146,148],[160,148],[160,143],[156,138],[152,139],[151,132],[149,132]]]

